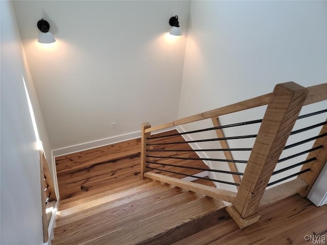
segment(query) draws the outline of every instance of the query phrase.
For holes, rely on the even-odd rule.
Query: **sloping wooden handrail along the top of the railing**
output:
[[[310,86],[310,87],[307,87],[307,89],[309,89],[309,94],[307,96],[305,103],[303,104],[304,106],[327,100],[327,83]],[[255,108],[255,107],[259,107],[259,106],[265,106],[269,103],[270,97],[271,97],[271,93],[267,93],[267,94],[264,94],[264,95],[261,95],[258,97],[254,97],[249,100],[245,100],[242,102],[232,104],[232,105],[220,107],[220,108],[217,108],[214,110],[210,110],[210,111],[202,112],[202,113],[195,114],[192,116],[177,119],[177,120],[168,122],[166,124],[154,126],[154,127],[146,129],[145,133],[153,132],[153,131],[160,130],[160,129],[166,129],[166,128],[170,128],[170,127],[174,127],[174,126],[178,126],[178,125],[182,125],[182,124],[188,124],[189,122],[194,122],[194,121],[213,118],[213,117],[217,117],[217,116],[221,116],[221,115],[226,115],[226,114],[233,113],[233,112],[243,111],[243,110],[247,110],[247,109],[251,109],[251,108]]]

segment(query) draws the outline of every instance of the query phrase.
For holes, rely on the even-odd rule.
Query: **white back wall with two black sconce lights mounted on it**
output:
[[[53,150],[177,117],[190,1],[14,1],[14,8]],[[174,15],[184,33],[177,38],[167,35]],[[36,41],[41,17],[52,45]]]

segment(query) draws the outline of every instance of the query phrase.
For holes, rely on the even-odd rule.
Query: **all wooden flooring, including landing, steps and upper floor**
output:
[[[297,194],[261,207],[259,222],[240,230],[220,201],[141,180],[139,144],[135,139],[56,158],[61,201],[53,245],[313,244],[305,238],[327,236],[327,207]]]

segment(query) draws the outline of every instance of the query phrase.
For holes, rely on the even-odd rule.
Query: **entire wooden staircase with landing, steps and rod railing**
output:
[[[327,112],[324,109],[298,116],[302,105],[306,106],[325,100],[327,100],[327,84],[308,88],[303,88],[293,82],[278,84],[272,93],[241,103],[178,119],[160,126],[151,127],[149,123],[144,123],[142,139],[136,139],[132,143],[124,142],[123,147],[119,144],[110,145],[56,158],[61,200],[52,244],[184,244],[186,240],[188,240],[188,244],[204,244],[198,243],[202,239],[201,234],[204,233],[205,237],[214,239],[213,243],[205,244],[220,244],[216,241],[221,239],[224,241],[224,236],[230,234],[230,231],[236,231],[235,229],[237,229],[238,238],[243,236],[245,240],[240,238],[240,243],[235,242],[235,237],[229,237],[229,243],[221,244],[253,244],[256,242],[271,244],[269,241],[274,238],[274,235],[267,236],[267,232],[271,233],[269,229],[283,226],[278,231],[278,239],[281,239],[281,237],[285,238],[289,228],[293,229],[290,224],[294,224],[296,227],[297,224],[302,225],[301,234],[298,230],[292,231],[295,235],[304,237],[311,234],[311,227],[308,228],[305,221],[308,219],[298,217],[297,214],[312,204],[305,204],[307,201],[298,199],[298,194],[306,197],[327,160],[327,138],[325,137],[327,136],[327,121],[295,131],[292,131],[292,128],[298,119]],[[218,117],[221,115],[267,104],[263,119],[219,126]],[[151,135],[151,132],[157,130],[203,119],[212,119],[215,127],[183,133],[168,132],[166,135],[165,133],[159,136]],[[252,123],[261,123],[256,135],[224,137],[223,132],[220,132],[226,127]],[[320,127],[318,135],[293,144],[286,144],[288,136],[317,127]],[[181,134],[193,134],[208,130],[216,130],[218,138],[181,142],[183,141]],[[251,154],[248,160],[234,160],[231,155],[229,156],[231,159],[226,155],[228,159],[199,158],[189,145],[189,143],[195,142],[252,137],[256,137],[256,140],[253,148],[250,149]],[[313,140],[313,146],[309,150],[301,150],[285,159],[279,159],[285,149]],[[161,142],[159,143],[159,141]],[[182,149],[182,145],[186,145],[186,149]],[[226,149],[201,149],[201,151],[244,150],[229,149],[227,143],[222,145],[226,145],[224,146]],[[275,170],[277,163],[303,156],[303,154],[308,154],[305,161]],[[141,166],[138,164],[140,160]],[[203,160],[228,162],[231,171],[208,169]],[[244,173],[232,170],[232,168],[236,168],[233,164],[235,162],[247,164]],[[272,175],[298,166],[302,166],[298,173],[273,182],[269,181]],[[176,167],[186,170],[180,173],[175,170]],[[239,178],[234,178],[235,183],[212,179],[212,177],[207,182],[203,182],[202,179],[198,180],[197,182],[201,184],[190,184],[185,180],[179,180],[183,176],[195,177],[200,173],[199,171],[204,171],[202,173],[216,171],[216,173],[242,175],[243,177],[241,183],[238,183]],[[295,176],[298,177],[275,185]],[[213,188],[213,183],[210,181],[236,185],[238,191]],[[266,189],[270,185],[275,186]],[[219,200],[232,203],[232,205],[224,209],[224,204]],[[297,200],[300,211],[295,207]],[[285,205],[287,202],[291,205]],[[274,204],[270,205],[272,203]],[[279,216],[280,210],[283,212],[287,210],[281,216],[283,220],[275,220],[270,217],[260,219],[261,216],[265,217],[265,212],[269,211],[270,207],[276,208],[270,212],[277,216]],[[326,215],[324,210],[314,207],[310,209],[315,212],[314,214],[308,213],[313,220]],[[289,215],[292,212],[295,213]],[[237,226],[235,223],[229,222],[230,217]],[[321,230],[325,229],[324,222],[325,219],[321,224],[311,224],[312,227],[318,229],[318,233],[313,232],[314,235],[325,233],[325,230]],[[217,227],[217,225],[222,229],[212,231],[213,227]],[[265,232],[255,232],[257,230],[265,230]],[[254,233],[253,239],[255,240],[249,242],[248,234],[252,236]],[[192,234],[194,235],[192,236]],[[193,240],[192,237],[197,237],[197,240]],[[260,242],[265,239],[265,242]],[[275,241],[278,241],[276,239]],[[287,240],[289,242],[289,239]],[[190,243],[190,241],[192,242]],[[246,243],[242,243],[245,241]],[[272,244],[276,244],[276,242]]]

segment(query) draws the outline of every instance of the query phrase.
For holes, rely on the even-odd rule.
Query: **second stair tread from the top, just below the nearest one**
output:
[[[83,239],[96,238],[146,217],[201,198],[201,195],[194,192],[186,192],[178,187],[163,191],[162,189],[158,188],[159,192],[149,197],[141,198],[55,228],[56,243],[53,244],[67,244],[72,241],[79,243]]]

